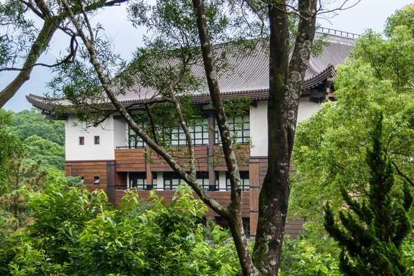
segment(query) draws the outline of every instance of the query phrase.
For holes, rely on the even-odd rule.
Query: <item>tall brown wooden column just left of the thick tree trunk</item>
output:
[[[254,238],[257,230],[257,219],[259,218],[260,159],[250,158],[248,164],[250,184],[250,237]]]

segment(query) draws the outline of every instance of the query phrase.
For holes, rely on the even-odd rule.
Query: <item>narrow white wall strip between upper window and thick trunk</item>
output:
[[[250,136],[253,148],[250,156],[267,156],[267,101],[257,101],[257,107],[250,108]]]

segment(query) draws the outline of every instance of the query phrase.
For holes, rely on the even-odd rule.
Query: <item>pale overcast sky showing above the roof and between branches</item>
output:
[[[333,1],[333,0],[331,0]],[[352,0],[350,0],[352,1]],[[335,17],[328,14],[325,19],[319,19],[319,23],[324,28],[342,30],[355,34],[362,34],[367,28],[376,32],[381,32],[384,27],[386,18],[393,14],[395,10],[405,5],[413,3],[414,0],[362,0],[357,6],[338,12]],[[335,8],[335,6],[332,6]],[[115,42],[115,50],[121,54],[124,59],[130,59],[131,53],[137,46],[141,46],[141,37],[144,30],[137,30],[128,22],[125,13],[125,6],[112,7],[100,12],[94,18],[95,22],[101,22],[106,34]],[[53,63],[59,56],[61,50],[68,46],[68,41],[62,34],[57,34],[50,44],[50,50],[47,55],[43,55],[42,62]],[[0,89],[3,89],[13,79],[16,74],[7,72],[0,75]],[[34,68],[32,76],[22,88],[17,92],[8,103],[6,110],[16,112],[31,108],[30,103],[26,101],[25,95],[30,93],[43,95],[47,92],[45,88],[46,81],[51,79],[50,71],[47,68]]]

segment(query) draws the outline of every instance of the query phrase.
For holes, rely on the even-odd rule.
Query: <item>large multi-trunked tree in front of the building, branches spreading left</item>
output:
[[[110,55],[110,44],[99,36],[99,30],[92,28],[86,14],[79,17],[72,10],[72,3],[66,0],[62,3],[85,46],[83,59],[90,63],[77,60],[69,66],[59,67],[59,77],[50,83],[53,90],[58,94],[63,92],[67,99],[76,104],[79,118],[94,125],[112,112],[119,112],[130,128],[157,155],[163,157],[210,208],[228,220],[244,275],[255,275],[259,271],[266,275],[277,275],[288,207],[288,171],[297,106],[311,55],[316,15],[325,12],[322,3],[315,0],[301,0],[292,5],[288,1],[204,3],[201,0],[160,0],[156,6],[148,6],[139,1],[130,8],[132,20],[137,25],[146,26],[153,34],[146,39],[146,48],[137,50],[135,61],[129,66],[119,63],[116,55]],[[79,6],[82,10],[82,1],[79,1]],[[292,47],[288,46],[289,14],[293,14],[298,22]],[[269,26],[264,23],[267,20]],[[228,135],[230,131],[217,75],[226,66],[226,56],[236,55],[242,49],[241,42],[250,45],[262,43],[262,40],[248,39],[257,37],[257,34],[266,36],[266,30],[269,30],[270,35],[269,166],[260,195],[259,225],[252,258],[242,226],[242,186],[237,158],[233,141]],[[222,43],[224,41],[228,43]],[[239,47],[234,50],[232,42],[235,41]],[[215,48],[215,42],[221,43],[221,47]],[[292,58],[289,61],[290,50]],[[203,78],[190,70],[190,66],[200,56],[204,62]],[[230,175],[229,206],[219,205],[197,184],[195,152],[187,124],[192,119],[191,115],[194,118],[197,114],[186,110],[190,106],[188,94],[197,92],[203,81],[208,85]],[[146,108],[143,117],[146,116],[150,121],[148,128],[137,124],[128,114],[126,106],[117,99],[130,88],[131,83],[138,83],[140,87],[150,88],[155,93],[155,97],[139,103]],[[113,89],[115,86],[116,90]],[[112,105],[108,105],[106,99]],[[177,126],[186,135],[186,166],[181,166],[172,157],[172,149],[163,147],[161,140],[158,140],[160,130],[154,124],[153,117],[160,113],[159,108],[173,110],[171,118],[175,124],[170,128]],[[90,110],[95,112],[91,113]]]

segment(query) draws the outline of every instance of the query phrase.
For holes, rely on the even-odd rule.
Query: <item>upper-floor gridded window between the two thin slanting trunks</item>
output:
[[[194,146],[208,145],[208,118],[203,119],[201,124],[187,126],[193,140]],[[187,139],[184,131],[181,128],[172,130],[171,132],[171,146],[187,146]]]

